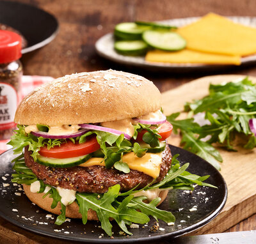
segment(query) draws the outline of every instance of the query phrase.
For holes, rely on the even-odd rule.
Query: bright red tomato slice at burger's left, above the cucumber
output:
[[[73,143],[68,140],[67,143],[63,143],[60,146],[54,146],[54,148],[47,149],[47,146],[40,148],[39,154],[47,156],[49,158],[73,158],[74,156],[83,156],[93,151],[100,149],[100,145],[97,142],[96,137],[87,139],[86,142],[79,144]]]

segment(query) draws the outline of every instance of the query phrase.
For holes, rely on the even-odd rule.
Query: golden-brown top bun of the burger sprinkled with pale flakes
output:
[[[74,125],[127,119],[157,111],[153,82],[114,70],[65,75],[29,93],[19,104],[20,125]]]

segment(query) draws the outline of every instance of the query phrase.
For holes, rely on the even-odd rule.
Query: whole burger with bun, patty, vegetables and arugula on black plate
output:
[[[10,145],[13,182],[40,208],[65,218],[145,224],[168,190],[193,190],[200,176],[180,167],[166,139],[172,125],[161,112],[161,94],[138,75],[113,70],[76,73],[48,82],[26,96],[15,114]],[[205,177],[204,179],[206,179]],[[139,210],[139,211],[138,211]]]

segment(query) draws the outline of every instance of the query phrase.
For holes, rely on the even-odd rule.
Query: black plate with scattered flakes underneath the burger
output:
[[[159,225],[164,228],[164,231],[158,231],[157,233],[149,232],[150,227],[155,222],[154,219],[150,220],[147,226],[140,225],[140,229],[131,229],[133,236],[129,238],[120,235],[118,225],[113,223],[113,236],[115,239],[110,239],[109,236],[106,236],[106,233],[99,227],[100,223],[96,221],[91,221],[83,225],[81,220],[72,219],[70,222],[65,222],[61,226],[54,225],[53,222],[56,218],[54,215],[52,215],[54,216],[54,220],[51,218],[47,219],[45,216],[49,213],[32,204],[26,195],[24,195],[24,192],[21,189],[19,190],[19,185],[15,186],[15,184],[13,185],[10,182],[13,172],[10,161],[15,157],[13,156],[12,150],[8,150],[0,155],[0,216],[12,224],[32,231],[33,233],[64,240],[92,243],[148,242],[161,238],[177,237],[194,231],[209,223],[220,213],[227,201],[227,185],[220,172],[204,159],[175,146],[170,146],[170,148],[173,155],[176,153],[180,154],[178,159],[182,164],[190,162],[188,169],[191,173],[202,176],[211,174],[211,177],[207,179],[207,183],[216,185],[218,189],[196,187],[193,194],[182,190],[171,190],[159,208],[172,211],[176,217],[176,222],[175,225],[168,226],[160,220]],[[3,183],[8,183],[10,186],[4,187]],[[17,192],[20,195],[15,195]],[[189,211],[193,206],[196,206],[197,210]],[[56,232],[54,229],[60,232]],[[86,231],[86,234],[84,234],[84,231]],[[104,234],[104,236],[99,238],[101,234]]]

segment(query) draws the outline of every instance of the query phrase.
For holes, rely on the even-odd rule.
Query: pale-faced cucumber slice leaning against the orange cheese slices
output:
[[[151,47],[166,51],[177,51],[186,47],[186,40],[171,31],[145,31],[142,39]]]

